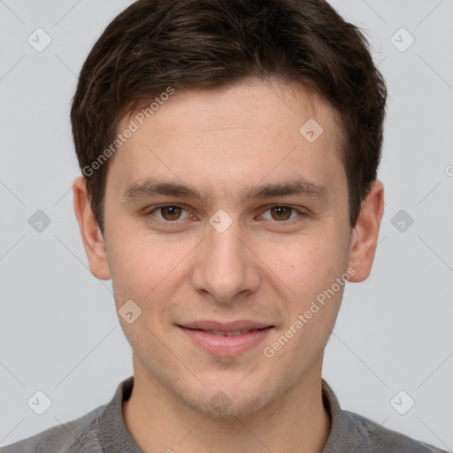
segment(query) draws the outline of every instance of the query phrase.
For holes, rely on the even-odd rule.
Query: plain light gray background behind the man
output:
[[[0,445],[107,403],[132,374],[111,284],[89,273],[73,216],[69,125],[81,65],[130,3],[0,1]],[[346,288],[324,378],[343,408],[451,451],[453,2],[333,4],[365,28],[389,99],[377,257],[372,277]],[[42,52],[27,42],[38,27],[52,40]],[[403,52],[390,41],[401,27],[415,38]],[[409,39],[393,38],[400,49]],[[41,233],[28,223],[37,210],[51,219]],[[414,219],[403,232],[391,222],[400,210]],[[52,402],[41,416],[27,405],[37,390]],[[405,415],[390,404],[400,390],[415,401]]]

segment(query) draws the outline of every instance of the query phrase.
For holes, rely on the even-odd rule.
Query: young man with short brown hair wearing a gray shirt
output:
[[[141,0],[73,98],[74,210],[134,377],[12,452],[441,451],[321,378],[372,268],[386,88],[320,0]]]

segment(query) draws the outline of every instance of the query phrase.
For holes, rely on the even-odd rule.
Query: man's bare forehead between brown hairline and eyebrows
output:
[[[165,99],[119,124],[134,133],[111,162],[115,186],[172,179],[239,196],[258,181],[345,182],[340,119],[299,84],[248,81]]]

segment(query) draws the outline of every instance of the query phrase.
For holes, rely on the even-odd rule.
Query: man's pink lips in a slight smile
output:
[[[274,328],[269,324],[247,319],[225,323],[208,320],[194,321],[178,327],[196,346],[219,357],[237,356],[253,348]],[[238,331],[247,332],[235,334]],[[227,333],[234,336],[227,336]]]

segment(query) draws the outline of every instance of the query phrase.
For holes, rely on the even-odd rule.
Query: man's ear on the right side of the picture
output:
[[[383,214],[384,186],[380,180],[375,180],[370,193],[362,202],[357,224],[352,231],[349,266],[356,273],[350,281],[363,281],[370,275]]]

